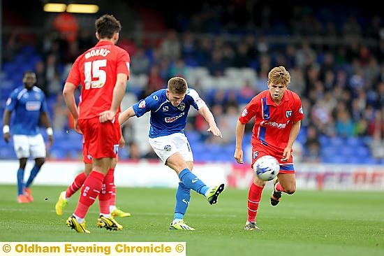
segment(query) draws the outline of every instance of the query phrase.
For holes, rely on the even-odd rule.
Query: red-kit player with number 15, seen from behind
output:
[[[95,25],[98,43],[77,57],[63,90],[75,129],[84,135],[84,144],[93,159],[93,168],[84,181],[75,213],[66,220],[68,227],[81,233],[89,233],[84,217],[97,197],[101,212],[98,227],[122,229],[110,215],[113,173],[108,170],[119,148],[118,113],[129,77],[130,59],[126,50],[115,45],[121,30],[119,20],[112,15],[103,15]],[[82,85],[80,113],[74,97],[79,85]]]

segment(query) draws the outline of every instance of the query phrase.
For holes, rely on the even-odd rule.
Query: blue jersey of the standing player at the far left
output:
[[[15,111],[15,118],[10,125],[12,134],[36,135],[40,113],[47,112],[47,103],[42,90],[34,86],[27,90],[24,86],[17,87],[10,94],[6,110]]]

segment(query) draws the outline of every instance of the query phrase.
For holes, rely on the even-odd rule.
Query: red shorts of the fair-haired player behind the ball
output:
[[[282,162],[281,158],[283,158],[283,152],[277,152],[276,150],[269,150],[267,147],[252,147],[252,164],[251,168],[253,168],[253,164],[259,157],[263,157],[263,155],[272,155],[275,157],[280,164],[279,173],[295,173],[295,166],[293,166],[293,157],[290,155],[290,159],[286,162]]]

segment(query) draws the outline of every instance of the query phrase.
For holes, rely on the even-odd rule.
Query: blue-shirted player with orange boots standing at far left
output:
[[[40,121],[47,129],[50,145],[53,142],[53,131],[47,113],[45,95],[42,90],[35,86],[36,73],[26,71],[22,82],[24,86],[17,87],[10,94],[3,115],[4,140],[8,143],[10,132],[12,132],[13,146],[20,162],[17,170],[17,202],[21,204],[34,201],[30,186],[45,162],[45,143],[38,129]],[[15,113],[15,117],[10,129],[12,112]],[[27,183],[24,184],[24,169],[30,155],[35,159],[35,165],[31,169]]]

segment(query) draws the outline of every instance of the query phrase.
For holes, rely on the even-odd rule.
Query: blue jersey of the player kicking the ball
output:
[[[202,106],[206,106],[198,92],[191,88],[187,90],[179,106],[173,106],[168,101],[166,91],[166,89],[158,90],[133,105],[133,111],[138,118],[151,111],[149,138],[167,136],[177,132],[184,133],[189,108],[193,106],[199,110]]]

